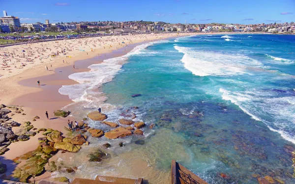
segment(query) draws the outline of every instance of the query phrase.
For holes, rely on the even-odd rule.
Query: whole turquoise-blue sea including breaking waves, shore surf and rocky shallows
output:
[[[209,184],[258,184],[255,175],[295,184],[294,35],[163,40],[89,68],[59,91],[88,110],[103,100],[110,121],[133,112],[155,124],[126,138],[154,168],[168,172],[176,159]]]

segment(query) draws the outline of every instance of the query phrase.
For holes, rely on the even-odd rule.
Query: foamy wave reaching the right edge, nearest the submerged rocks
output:
[[[277,97],[272,91],[232,92],[220,88],[223,100],[239,106],[246,114],[262,121],[271,131],[278,132],[284,139],[295,143],[293,131],[295,122],[295,97]],[[267,116],[266,116],[267,114]],[[270,119],[267,117],[270,117]]]

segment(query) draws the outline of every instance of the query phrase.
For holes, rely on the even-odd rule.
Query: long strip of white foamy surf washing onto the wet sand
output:
[[[167,41],[168,40],[161,40],[136,46],[125,55],[105,59],[102,63],[90,65],[88,67],[90,71],[88,72],[71,74],[68,78],[77,81],[78,84],[63,85],[59,88],[59,93],[68,95],[74,103],[80,102],[86,108],[94,108],[97,107],[97,105],[103,105],[107,98],[99,90],[99,87],[104,83],[112,81],[122,65],[126,63],[128,57],[144,53],[148,46],[156,43],[165,43]],[[73,105],[73,103],[70,105]]]

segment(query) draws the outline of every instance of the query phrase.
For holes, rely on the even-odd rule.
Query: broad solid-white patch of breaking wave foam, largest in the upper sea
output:
[[[227,76],[247,74],[247,67],[259,67],[262,64],[241,54],[223,54],[201,52],[186,47],[174,46],[184,53],[181,62],[184,67],[196,76]]]

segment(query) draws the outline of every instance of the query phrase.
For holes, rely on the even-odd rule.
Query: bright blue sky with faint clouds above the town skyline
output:
[[[258,24],[295,22],[295,0],[0,0],[21,23],[163,21]]]

